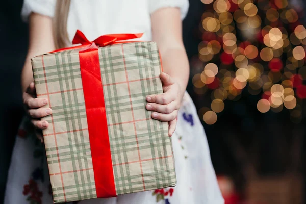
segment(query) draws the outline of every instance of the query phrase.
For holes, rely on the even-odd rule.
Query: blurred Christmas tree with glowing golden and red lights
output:
[[[211,96],[199,109],[207,124],[217,121],[224,100],[242,92],[258,95],[257,109],[290,110],[290,119],[304,117],[306,98],[306,29],[303,13],[287,0],[201,0],[207,5],[199,31],[198,56],[191,61],[194,92]]]

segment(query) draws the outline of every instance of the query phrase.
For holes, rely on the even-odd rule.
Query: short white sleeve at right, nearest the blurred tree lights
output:
[[[178,7],[181,9],[181,18],[184,19],[189,8],[188,0],[148,0],[150,14],[162,7]]]

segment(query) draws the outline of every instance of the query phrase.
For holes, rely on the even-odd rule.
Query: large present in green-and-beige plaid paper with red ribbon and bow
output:
[[[175,186],[168,123],[151,118],[146,96],[163,93],[155,42],[139,34],[74,44],[32,58],[37,97],[53,110],[43,120],[55,203]],[[125,40],[125,41],[124,41]]]

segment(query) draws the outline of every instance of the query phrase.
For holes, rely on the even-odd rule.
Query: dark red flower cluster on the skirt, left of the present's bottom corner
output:
[[[37,183],[33,180],[29,180],[29,184],[25,184],[23,186],[23,195],[29,195],[27,200],[30,201],[31,204],[40,204],[42,192],[38,190]]]

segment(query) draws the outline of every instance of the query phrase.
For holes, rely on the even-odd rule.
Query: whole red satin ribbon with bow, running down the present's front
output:
[[[98,46],[106,46],[118,42],[141,37],[142,34],[114,34],[100,36],[89,41],[81,31],[77,31],[73,44],[82,44],[73,49],[85,47],[79,51],[80,69],[85,99],[88,133],[96,194],[99,198],[116,197],[113,163],[108,134],[107,117],[100,72]],[[61,49],[61,50],[64,50]],[[58,52],[56,50],[54,52]]]

